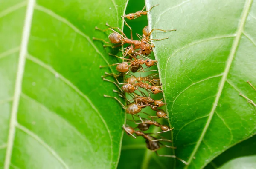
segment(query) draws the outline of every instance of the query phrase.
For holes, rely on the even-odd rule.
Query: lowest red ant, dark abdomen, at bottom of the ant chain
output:
[[[176,158],[177,160],[180,160],[182,163],[184,164],[188,164],[186,161],[176,157],[175,155],[159,155],[157,153],[157,150],[163,148],[163,147],[168,147],[171,149],[176,149],[176,147],[173,146],[168,146],[168,145],[164,145],[163,143],[161,143],[160,141],[167,141],[167,142],[172,142],[172,140],[167,140],[167,139],[157,139],[155,137],[150,136],[149,134],[145,134],[144,132],[141,131],[136,131],[134,130],[132,127],[130,126],[122,126],[123,129],[125,129],[126,134],[133,136],[134,138],[136,138],[133,134],[135,133],[137,136],[142,136],[143,138],[145,138],[145,142],[146,142],[146,146],[148,149],[150,149],[153,152],[156,152],[157,156],[160,157],[170,157],[170,158]]]

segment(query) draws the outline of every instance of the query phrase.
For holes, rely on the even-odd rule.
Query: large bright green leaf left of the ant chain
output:
[[[0,2],[0,168],[116,168],[125,114],[92,37],[122,27],[126,0]]]

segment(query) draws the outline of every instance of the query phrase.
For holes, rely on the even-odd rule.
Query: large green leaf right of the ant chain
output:
[[[256,92],[256,2],[146,0],[175,155],[176,168],[200,169],[229,147],[256,134],[247,100]]]

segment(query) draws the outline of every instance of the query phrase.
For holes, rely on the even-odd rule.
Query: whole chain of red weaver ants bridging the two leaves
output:
[[[172,29],[172,30],[152,29],[149,32],[148,26],[145,26],[142,31],[143,32],[142,36],[140,34],[137,34],[137,37],[139,37],[140,40],[133,40],[132,29],[126,23],[125,18],[129,20],[136,19],[137,17],[146,15],[149,11],[151,11],[153,7],[154,6],[152,6],[148,11],[144,11],[145,9],[145,6],[144,6],[144,8],[141,11],[137,11],[135,13],[122,16],[122,19],[125,25],[128,26],[128,28],[130,29],[131,39],[129,39],[125,35],[125,33],[122,32],[120,28],[111,27],[110,25],[108,25],[108,23],[106,23],[106,25],[109,27],[108,29],[102,30],[97,27],[95,28],[101,31],[111,30],[113,32],[108,36],[110,42],[106,42],[103,39],[98,39],[93,37],[93,40],[101,40],[104,43],[116,44],[116,46],[103,45],[104,47],[115,48],[115,47],[123,46],[124,44],[129,45],[126,48],[124,48],[124,50],[122,50],[123,52],[122,57],[109,53],[109,55],[111,56],[118,57],[122,60],[125,60],[122,63],[115,63],[112,65],[108,65],[108,66],[116,65],[116,70],[119,71],[120,73],[114,74],[114,73],[105,72],[105,76],[102,76],[103,80],[114,83],[118,87],[119,91],[113,90],[113,92],[118,93],[119,97],[124,98],[126,100],[126,105],[124,105],[117,97],[112,97],[108,95],[104,95],[104,97],[111,97],[117,100],[121,104],[122,108],[125,109],[125,112],[132,116],[133,121],[135,122],[135,124],[137,124],[137,127],[133,128],[128,125],[122,126],[122,128],[125,130],[125,132],[128,135],[134,138],[136,138],[134,134],[137,136],[143,137],[145,139],[146,147],[151,151],[156,152],[158,156],[176,158],[186,164],[186,161],[176,157],[175,155],[159,155],[157,153],[157,150],[159,150],[162,147],[168,147],[172,149],[176,148],[173,146],[168,146],[163,144],[162,142],[172,142],[172,140],[165,139],[164,137],[159,135],[159,133],[171,131],[173,128],[170,129],[168,126],[162,125],[157,121],[154,121],[154,118],[165,118],[165,119],[168,118],[166,112],[163,109],[158,109],[166,104],[162,101],[163,98],[160,100],[154,100],[153,98],[151,98],[151,94],[158,94],[160,92],[163,92],[163,90],[161,90],[161,83],[160,83],[158,74],[153,73],[145,77],[135,77],[130,73],[130,72],[135,73],[135,72],[145,72],[145,71],[157,71],[157,70],[145,70],[151,66],[156,65],[157,63],[156,60],[148,58],[149,57],[148,55],[151,54],[152,52],[152,48],[154,48],[154,44],[151,43],[151,40],[163,40],[167,38],[150,39],[150,35],[154,30],[160,30],[163,32],[176,31],[176,29]],[[117,29],[117,31],[115,29]],[[143,68],[144,64],[145,64],[145,68]],[[108,66],[100,66],[100,68],[108,67]],[[124,79],[124,83],[119,83],[118,77],[124,77],[124,75],[126,75],[126,78]],[[116,81],[108,80],[106,78],[108,76],[113,76]],[[122,85],[122,86],[119,86],[119,85]],[[126,94],[131,99],[127,99]],[[147,113],[142,112],[142,109],[145,107],[150,107],[152,110],[156,111],[155,116],[150,116],[150,115],[148,116],[150,120],[138,115],[139,113],[144,113],[148,115]],[[136,121],[134,119],[134,116],[140,120]],[[145,131],[147,131],[151,125],[160,127],[162,132],[145,133]],[[139,130],[136,130],[136,128]],[[152,136],[153,134],[156,136]]]

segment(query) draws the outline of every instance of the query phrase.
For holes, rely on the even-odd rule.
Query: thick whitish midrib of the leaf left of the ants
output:
[[[14,97],[12,103],[12,111],[10,115],[9,133],[7,140],[6,156],[4,161],[4,169],[9,169],[12,157],[12,148],[15,139],[15,127],[17,126],[17,110],[21,94],[22,79],[26,61],[27,46],[29,42],[29,34],[32,23],[32,16],[34,11],[35,0],[28,0],[26,15],[24,20],[24,27],[21,38],[20,54],[17,66],[17,75],[15,81]]]

